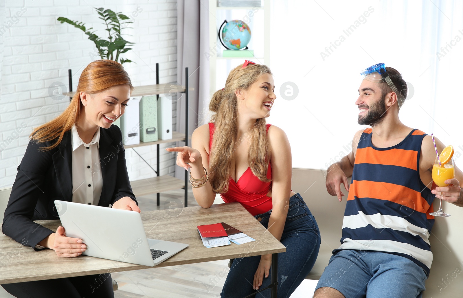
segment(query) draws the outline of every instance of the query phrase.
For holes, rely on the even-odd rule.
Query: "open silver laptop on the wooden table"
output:
[[[188,244],[147,239],[140,213],[55,200],[66,236],[86,245],[82,255],[156,266]],[[153,227],[154,228],[154,227]]]

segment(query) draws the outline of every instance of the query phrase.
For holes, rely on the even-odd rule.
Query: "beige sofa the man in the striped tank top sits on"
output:
[[[293,168],[291,188],[299,192],[313,216],[321,235],[320,252],[307,279],[319,279],[328,265],[332,250],[338,248],[347,191],[341,186],[345,196],[342,202],[326,191],[326,171],[307,168]],[[350,179],[349,179],[350,181]],[[439,201],[434,203],[438,209]],[[423,298],[463,297],[463,208],[445,203],[445,212],[451,217],[436,217],[430,242],[433,261],[426,291]]]

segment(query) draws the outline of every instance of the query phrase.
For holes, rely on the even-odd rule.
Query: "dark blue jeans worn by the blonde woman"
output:
[[[266,229],[271,213],[270,210],[255,216],[262,219],[260,223]],[[288,216],[280,242],[286,247],[286,252],[278,254],[278,298],[287,298],[312,270],[320,248],[318,225],[299,193],[289,199]],[[260,259],[260,255],[234,259],[220,296],[243,298],[254,292],[252,283]],[[269,277],[263,278],[261,289],[269,286],[270,276],[271,270]],[[270,291],[264,290],[256,297],[270,297]]]

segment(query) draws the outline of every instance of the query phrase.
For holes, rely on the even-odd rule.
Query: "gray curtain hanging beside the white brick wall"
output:
[[[209,62],[201,54],[209,48],[208,6],[208,0],[177,0],[177,81],[185,85],[185,68],[188,67],[188,86],[194,88],[188,92],[188,135],[203,124],[204,116],[198,115],[198,111],[205,107],[202,99],[209,97]],[[178,132],[185,133],[184,94],[177,100],[176,127]],[[188,146],[191,147],[191,140]],[[184,174],[183,168],[176,167],[175,177],[183,179]]]

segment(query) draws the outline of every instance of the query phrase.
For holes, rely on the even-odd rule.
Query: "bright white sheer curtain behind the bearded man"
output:
[[[401,121],[453,145],[463,164],[461,1],[270,1],[278,98],[268,123],[287,133],[293,167],[326,169],[350,152],[363,128],[360,70],[379,62],[408,82]]]

